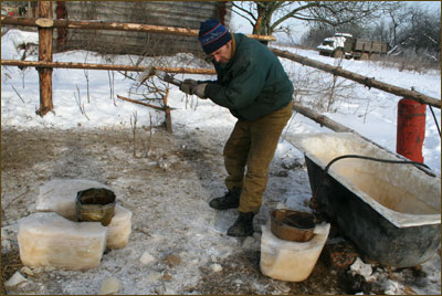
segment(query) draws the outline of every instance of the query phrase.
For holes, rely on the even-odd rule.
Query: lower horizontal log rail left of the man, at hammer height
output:
[[[91,63],[66,63],[66,62],[36,62],[36,61],[19,61],[19,60],[1,60],[3,66],[34,66],[34,67],[59,67],[59,68],[86,68],[86,70],[108,70],[108,71],[127,71],[143,72],[146,66],[127,66],[127,65],[106,65]],[[165,67],[155,66],[156,70],[167,73],[183,73],[183,74],[207,74],[214,75],[212,68],[191,68],[191,67]]]

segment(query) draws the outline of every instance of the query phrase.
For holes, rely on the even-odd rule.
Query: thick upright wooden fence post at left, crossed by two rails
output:
[[[39,18],[53,18],[52,1],[39,1]],[[39,27],[39,61],[52,62],[52,33],[53,28]],[[36,114],[43,117],[53,109],[52,103],[52,68],[38,67],[40,77],[40,109]]]

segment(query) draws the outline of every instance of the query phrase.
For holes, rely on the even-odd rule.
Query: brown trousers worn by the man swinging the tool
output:
[[[257,120],[238,120],[224,147],[229,190],[241,188],[240,212],[260,211],[267,184],[269,166],[280,136],[292,116],[293,103]],[[244,176],[246,167],[246,172]]]

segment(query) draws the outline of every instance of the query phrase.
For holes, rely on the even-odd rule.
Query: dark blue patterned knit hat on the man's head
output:
[[[218,20],[207,20],[200,24],[198,40],[201,42],[202,50],[211,54],[232,39],[228,29]]]

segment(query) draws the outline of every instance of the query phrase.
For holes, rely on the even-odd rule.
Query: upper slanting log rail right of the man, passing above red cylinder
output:
[[[271,49],[271,51],[276,54],[277,56],[281,57],[285,57],[292,61],[295,61],[297,63],[301,63],[303,65],[307,65],[311,67],[315,67],[315,68],[319,68],[322,71],[332,73],[334,75],[337,76],[341,76],[345,77],[347,80],[351,80],[355,81],[357,83],[364,84],[367,87],[373,87],[373,88],[378,88],[381,91],[385,91],[387,93],[400,96],[400,97],[404,97],[404,98],[409,98],[409,99],[414,99],[421,104],[428,104],[430,106],[436,107],[436,108],[441,108],[441,101],[431,96],[427,96],[423,95],[419,92],[415,91],[409,91],[399,86],[394,86],[388,83],[383,83],[383,82],[379,82],[375,78],[369,78],[367,76],[362,76],[356,73],[352,73],[350,71],[346,71],[343,70],[339,66],[332,66],[325,63],[320,63],[311,59],[307,59],[305,56],[295,54],[295,53],[291,53],[287,51],[281,51],[281,50],[276,50],[276,49]]]

